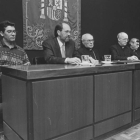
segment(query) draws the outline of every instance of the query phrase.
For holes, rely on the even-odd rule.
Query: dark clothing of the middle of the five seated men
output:
[[[80,55],[89,55],[95,60],[100,60],[99,54],[95,50],[95,48],[88,49],[88,48],[86,48],[85,46],[82,45],[81,48],[79,48],[77,51]]]

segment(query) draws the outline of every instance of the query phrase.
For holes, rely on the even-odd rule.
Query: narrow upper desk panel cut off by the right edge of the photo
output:
[[[140,107],[140,70],[134,71],[134,108]]]

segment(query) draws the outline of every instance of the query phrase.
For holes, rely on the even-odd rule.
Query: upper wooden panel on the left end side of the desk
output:
[[[2,85],[3,120],[27,140],[26,82],[2,75]]]

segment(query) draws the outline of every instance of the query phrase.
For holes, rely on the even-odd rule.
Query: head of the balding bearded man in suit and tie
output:
[[[56,25],[54,30],[55,37],[58,37],[62,42],[68,42],[70,40],[70,32],[71,28],[67,23]]]

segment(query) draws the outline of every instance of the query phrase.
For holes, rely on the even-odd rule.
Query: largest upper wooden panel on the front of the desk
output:
[[[33,83],[34,140],[93,123],[93,76]]]

